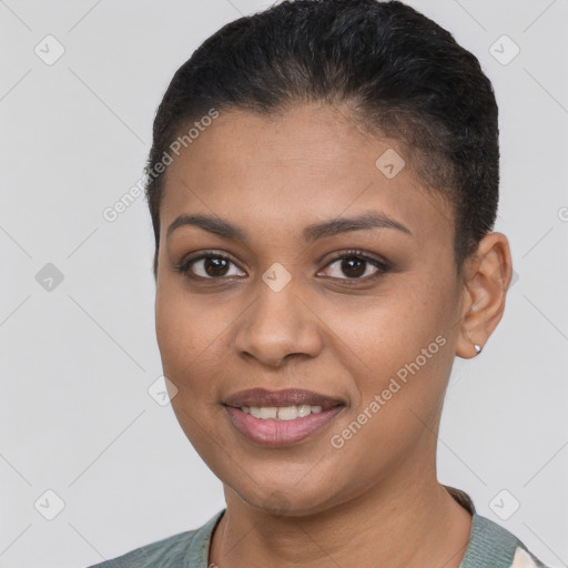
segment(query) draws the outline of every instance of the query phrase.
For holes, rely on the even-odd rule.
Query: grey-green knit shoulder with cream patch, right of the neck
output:
[[[506,528],[475,514],[460,568],[548,568]]]

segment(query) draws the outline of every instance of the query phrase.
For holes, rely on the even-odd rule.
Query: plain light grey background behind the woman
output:
[[[173,72],[222,24],[268,3],[0,1],[2,568],[94,564],[224,505],[171,407],[148,393],[161,364],[145,202],[113,222],[102,212],[140,180]],[[456,358],[439,478],[542,560],[568,566],[568,2],[409,3],[494,83],[495,229],[516,271],[483,355]],[[61,48],[48,34],[64,48],[52,64]],[[520,49],[511,61],[514,45],[495,44],[503,34]]]

